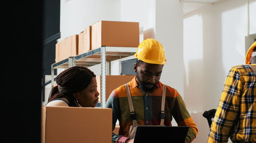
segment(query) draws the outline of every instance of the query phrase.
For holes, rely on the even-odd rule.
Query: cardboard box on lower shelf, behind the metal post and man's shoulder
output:
[[[97,90],[100,93],[100,77],[101,75],[96,75]],[[110,94],[113,90],[120,87],[121,85],[131,81],[135,75],[106,75],[106,100],[108,100]],[[101,95],[99,96],[99,101],[101,101]]]

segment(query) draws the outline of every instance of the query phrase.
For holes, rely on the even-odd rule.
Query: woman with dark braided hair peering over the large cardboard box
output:
[[[74,66],[56,77],[46,106],[95,107],[98,103],[96,75],[88,68]]]

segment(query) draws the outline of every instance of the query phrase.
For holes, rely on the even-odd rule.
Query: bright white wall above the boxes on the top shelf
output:
[[[119,0],[60,0],[61,39],[100,20],[120,21]]]

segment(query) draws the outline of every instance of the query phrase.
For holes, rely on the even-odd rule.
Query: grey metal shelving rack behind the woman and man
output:
[[[52,64],[51,83],[54,85],[54,69],[67,69],[72,66],[94,66],[101,64],[101,105],[105,107],[106,75],[111,74],[111,61],[120,60],[136,53],[137,47],[108,47],[101,46],[97,49],[90,50],[76,56],[69,57],[58,63]]]

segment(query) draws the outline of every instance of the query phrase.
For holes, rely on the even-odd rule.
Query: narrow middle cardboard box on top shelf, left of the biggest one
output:
[[[78,37],[78,54],[90,51],[92,49],[92,26],[88,26]]]

